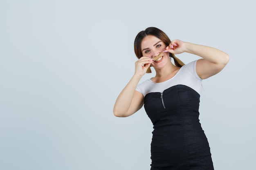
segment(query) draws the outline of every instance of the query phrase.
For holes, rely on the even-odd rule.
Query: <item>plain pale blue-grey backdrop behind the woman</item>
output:
[[[144,108],[126,118],[112,109],[134,73],[135,36],[155,26],[229,54],[202,82],[200,122],[216,170],[254,170],[255,9],[253,0],[0,0],[0,169],[149,170]]]

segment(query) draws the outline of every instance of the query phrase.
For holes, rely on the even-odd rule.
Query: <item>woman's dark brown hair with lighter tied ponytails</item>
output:
[[[160,40],[162,40],[162,42],[166,46],[168,46],[171,43],[170,38],[168,38],[166,33],[164,33],[162,30],[155,28],[155,27],[148,27],[147,29],[145,29],[145,31],[140,31],[134,40],[134,51],[135,51],[137,58],[140,58],[143,56],[142,51],[141,51],[141,41],[147,35],[153,35],[153,36],[159,38]],[[175,57],[174,54],[169,53],[169,56],[173,58],[175,66],[182,67],[185,65],[180,59]],[[151,73],[150,67],[148,67],[148,70],[146,73]]]

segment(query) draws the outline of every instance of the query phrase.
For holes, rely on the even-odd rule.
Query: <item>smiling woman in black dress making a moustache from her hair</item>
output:
[[[207,137],[198,119],[201,82],[219,73],[229,55],[209,46],[171,41],[155,27],[138,33],[134,49],[139,60],[130,82],[117,97],[114,115],[128,117],[144,105],[154,126],[151,170],[213,170]],[[184,52],[202,59],[185,65],[174,55]],[[155,77],[138,85],[145,73],[151,73],[150,66]]]

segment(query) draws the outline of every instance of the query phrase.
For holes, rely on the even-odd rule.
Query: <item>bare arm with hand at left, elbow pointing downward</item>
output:
[[[144,96],[135,91],[139,80],[146,73],[153,60],[150,57],[141,57],[135,62],[135,74],[130,82],[121,91],[115,102],[113,113],[117,117],[128,117],[137,112],[144,104]]]

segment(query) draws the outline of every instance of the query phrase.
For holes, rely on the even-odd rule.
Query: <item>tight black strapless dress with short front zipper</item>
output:
[[[200,95],[185,85],[145,95],[144,108],[154,126],[151,170],[213,170],[199,102]]]

